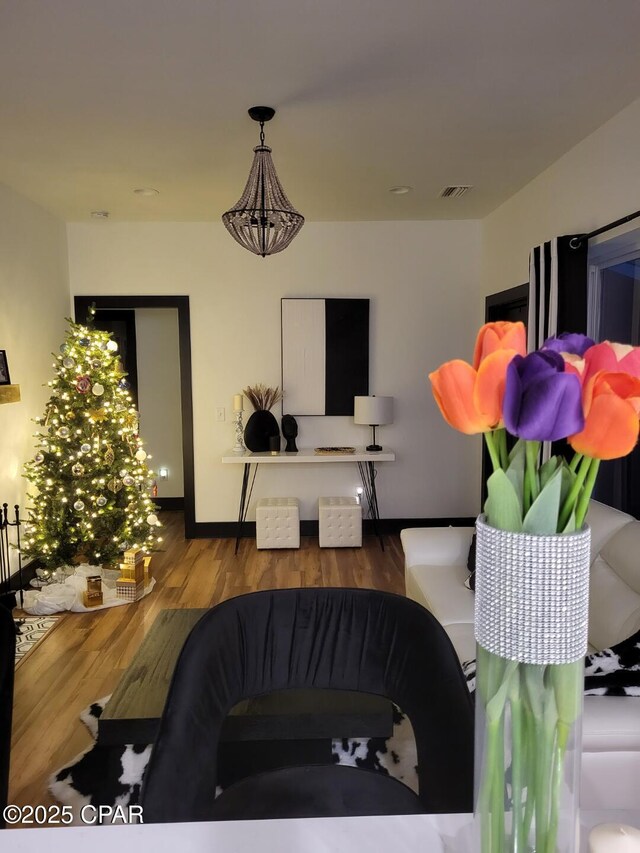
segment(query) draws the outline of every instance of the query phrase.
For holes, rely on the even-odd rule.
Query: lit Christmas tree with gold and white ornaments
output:
[[[69,322],[25,465],[37,489],[23,552],[44,566],[111,563],[160,539],[138,413],[108,332]]]

